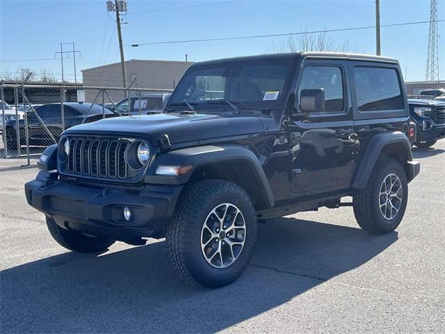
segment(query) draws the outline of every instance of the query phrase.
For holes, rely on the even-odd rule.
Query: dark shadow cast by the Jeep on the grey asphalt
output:
[[[220,289],[177,278],[165,242],[103,255],[64,253],[1,275],[9,332],[215,332],[355,269],[397,240],[358,228],[279,218],[259,225],[248,270]],[[273,270],[270,270],[273,269]]]

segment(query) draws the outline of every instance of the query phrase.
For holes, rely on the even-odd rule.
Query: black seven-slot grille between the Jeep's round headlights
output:
[[[70,155],[65,171],[70,174],[127,179],[137,171],[125,162],[125,151],[131,144],[126,139],[68,138]]]

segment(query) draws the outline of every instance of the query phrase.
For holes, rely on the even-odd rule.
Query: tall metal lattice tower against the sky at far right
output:
[[[431,0],[426,81],[439,81],[439,35],[437,33],[437,0]]]

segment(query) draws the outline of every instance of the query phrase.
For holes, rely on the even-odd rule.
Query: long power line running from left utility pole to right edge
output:
[[[435,22],[444,22],[445,19],[437,19]],[[426,24],[431,21],[418,21],[418,22],[403,22],[403,23],[394,23],[394,24],[382,24],[380,27],[389,27],[389,26],[408,26],[414,24]],[[247,40],[250,38],[267,38],[267,37],[282,37],[282,36],[291,36],[291,35],[306,35],[308,33],[334,33],[337,31],[353,31],[353,30],[364,30],[364,29],[375,29],[374,26],[356,26],[353,28],[343,28],[343,29],[327,29],[327,30],[314,30],[314,31],[300,31],[298,33],[272,33],[267,35],[250,35],[250,36],[236,36],[236,37],[223,37],[223,38],[204,38],[200,40],[169,40],[165,42],[145,42],[139,44],[133,44],[132,47],[140,47],[143,45],[161,45],[161,44],[179,44],[179,43],[193,43],[193,42],[216,42],[220,40]],[[128,46],[129,44],[127,44]]]

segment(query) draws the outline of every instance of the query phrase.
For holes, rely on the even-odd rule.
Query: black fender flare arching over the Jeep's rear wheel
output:
[[[405,164],[409,165],[408,168],[405,168],[408,174],[408,182],[414,179],[416,175],[411,175],[412,168],[410,168],[410,163],[412,161],[411,144],[407,136],[398,131],[381,132],[379,134],[375,134],[369,139],[364,152],[362,152],[362,158],[360,159],[355,171],[353,189],[364,189],[366,187],[369,177],[374,169],[375,162],[377,162],[377,159],[380,156],[380,152],[382,152],[382,150],[384,150],[388,145],[394,144],[399,145],[398,152],[403,152],[406,155]],[[417,171],[417,173],[419,172]]]

